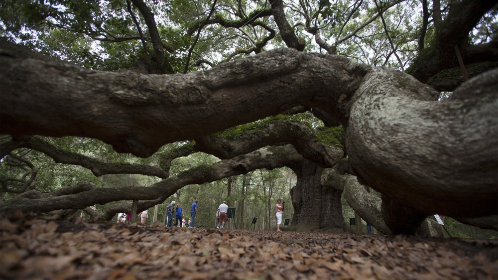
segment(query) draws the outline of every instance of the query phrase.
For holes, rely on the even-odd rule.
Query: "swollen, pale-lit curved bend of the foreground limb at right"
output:
[[[428,87],[375,68],[354,98],[346,134],[356,173],[391,199],[428,214],[496,214],[498,71],[480,77],[452,98],[432,102]]]

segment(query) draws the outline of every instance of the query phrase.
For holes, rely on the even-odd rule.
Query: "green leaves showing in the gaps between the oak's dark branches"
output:
[[[384,1],[383,4],[390,2]],[[145,3],[154,13],[159,35],[166,49],[165,60],[176,72],[183,71],[186,56],[197,35],[197,32],[194,32],[193,36],[189,36],[186,30],[206,18],[212,1],[169,0],[145,1]],[[366,0],[358,5],[358,9],[353,9],[358,3],[354,0],[290,1],[288,3],[290,8],[286,8],[285,11],[290,25],[295,26],[294,31],[297,36],[306,40],[307,51],[321,51],[321,49],[314,42],[313,36],[306,33],[305,28],[297,24],[298,22],[310,22],[309,27],[314,30],[319,29],[322,39],[337,47],[338,54],[369,65],[400,68],[393,56],[380,18],[358,30],[359,26],[377,13],[373,1]],[[383,13],[396,53],[405,64],[413,62],[417,55],[416,38],[422,22],[418,13],[419,5],[417,1],[404,1]],[[220,0],[212,18],[236,22],[247,19],[245,17],[256,9],[268,7],[268,2],[265,1]],[[145,60],[148,65],[153,64],[151,58],[154,57],[154,50],[150,43],[150,34],[144,16],[134,6],[132,6],[132,14],[136,17],[138,26],[127,10],[126,1],[123,0],[2,0],[0,1],[0,35],[8,37],[10,41],[25,44],[44,54],[61,57],[86,68],[116,70],[130,67],[138,60]],[[304,14],[311,17],[303,18]],[[494,8],[483,17],[475,32],[471,33],[469,40],[484,42],[496,38],[497,14],[498,10]],[[277,31],[275,38],[266,46],[267,49],[285,46],[271,16],[259,18],[258,22]],[[138,39],[139,29],[144,34],[145,46]],[[212,61],[214,64],[228,58],[237,59],[245,54],[233,56],[235,51],[247,50],[263,42],[267,35],[266,29],[251,26],[250,23],[237,28],[226,28],[219,24],[206,25],[200,32],[199,40],[191,53],[191,63],[200,58]],[[347,39],[342,40],[343,38]],[[425,42],[424,51],[418,53],[418,59],[422,61],[428,58],[431,47],[434,47],[432,25],[427,30]],[[189,71],[197,69],[199,69],[198,66],[191,66]],[[342,127],[325,128],[323,123],[310,113],[268,117],[227,129],[218,135],[232,140],[250,138],[251,134],[260,132],[263,126],[275,120],[289,120],[305,124],[315,132],[317,140],[327,145],[342,146],[344,141]],[[112,146],[98,140],[76,137],[42,139],[66,152],[78,152],[98,158],[103,162],[150,165],[155,164],[161,156],[181,153],[182,150],[191,149],[194,144],[193,141],[172,143],[165,145],[154,156],[137,158],[130,154],[116,153]],[[26,156],[38,168],[35,182],[37,189],[43,191],[55,190],[78,181],[90,181],[99,186],[111,187],[148,185],[157,180],[153,177],[129,174],[105,175],[97,178],[86,168],[57,164],[36,151],[31,151]],[[194,170],[209,172],[212,170],[213,163],[218,160],[204,153],[176,158],[171,165],[171,175],[182,175]],[[9,177],[19,177],[24,174],[21,169],[6,166],[3,161],[0,161],[0,171],[2,176]],[[292,181],[295,175],[289,175],[289,173],[292,172],[285,168],[251,172],[253,176],[250,176],[249,185],[244,194],[241,192],[242,176],[233,178],[234,192],[231,199],[234,205],[241,201],[247,202],[244,209],[245,219],[250,219],[251,216],[258,216],[260,219],[270,217],[269,213],[273,211],[271,207],[276,198],[280,196],[290,201],[289,188],[294,182],[288,183],[287,180]],[[178,192],[181,192],[178,201],[182,201],[187,212],[192,200],[199,198],[201,201],[199,219],[208,221],[213,219],[220,201],[228,199],[227,184],[227,179],[223,179],[200,186],[186,186]],[[272,186],[273,196],[270,196],[270,186]],[[2,194],[2,199],[9,197],[12,195]],[[170,201],[171,198],[168,198],[167,202]],[[162,209],[166,205],[166,202],[163,203]],[[159,213],[164,212],[162,209]],[[152,209],[149,210],[152,211]],[[286,212],[291,215],[292,210],[289,209]]]

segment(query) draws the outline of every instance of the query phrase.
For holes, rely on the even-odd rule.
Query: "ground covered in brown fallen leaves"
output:
[[[0,279],[498,279],[498,241],[0,219]]]

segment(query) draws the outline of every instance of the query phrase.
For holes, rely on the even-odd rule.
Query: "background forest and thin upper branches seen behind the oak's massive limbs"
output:
[[[454,19],[452,16],[457,9],[452,7],[463,6],[466,2],[4,0],[0,3],[0,35],[9,42],[83,68],[142,74],[185,74],[211,69],[220,63],[289,47],[292,40],[288,38],[293,37],[298,44],[295,48],[306,53],[339,54],[354,62],[412,74],[436,89],[440,93],[437,98],[444,100],[464,81],[458,62],[453,59],[452,67],[438,69],[427,77],[418,75],[427,71],[417,67],[428,63],[421,60],[433,57],[434,49],[440,47],[438,34],[443,32],[441,26]],[[470,24],[474,26],[468,33],[466,44],[496,48],[497,4],[496,1],[482,2],[491,8],[474,12],[478,14],[478,20],[477,24]],[[288,26],[281,24],[279,16],[283,16]],[[493,59],[474,62],[466,60],[467,65],[473,65],[467,69],[469,76],[498,65]],[[260,105],[255,102],[246,106],[256,110]],[[216,114],[213,119],[216,119]],[[282,120],[305,126],[312,131],[314,139],[327,147],[345,150],[343,126],[313,107],[293,108],[285,114],[237,126],[216,136],[229,140],[256,138],[255,132],[264,131],[262,126]],[[264,132],[273,136],[269,130]],[[20,144],[10,145],[16,141]],[[188,176],[189,172],[212,168],[210,166],[221,160],[207,150],[192,150],[194,144],[200,145],[200,141],[193,139],[163,145],[151,156],[144,157],[118,153],[108,143],[85,137],[19,139],[15,135],[2,135],[0,142],[0,203],[27,191],[57,192],[80,182],[89,182],[99,188],[115,188],[118,192],[122,186],[146,187],[167,177]],[[276,140],[267,145],[281,145],[281,142]],[[165,163],[165,157],[170,158],[170,162]],[[122,169],[106,172],[99,167],[104,165]],[[133,169],[143,166],[160,167],[162,171],[152,174]],[[187,184],[174,195],[158,198],[156,206],[148,207],[148,221],[157,219],[163,222],[165,207],[172,200],[180,203],[187,214],[196,198],[199,200],[196,223],[206,227],[215,227],[216,209],[224,200],[236,208],[236,225],[233,227],[237,228],[248,228],[252,217],[258,217],[256,229],[274,229],[278,198],[287,202],[285,219],[292,220],[297,215],[291,197],[291,189],[298,184],[293,168],[247,171],[211,182]],[[380,197],[374,190],[369,191]],[[303,203],[318,209],[322,207],[321,204],[315,205],[312,199],[303,199]],[[350,218],[358,221],[360,216],[350,207],[344,194],[341,204],[347,228],[366,232],[365,222],[363,227],[349,225]],[[129,209],[131,200],[95,206],[96,213],[87,207],[83,209],[86,212],[83,215],[92,218],[110,215],[107,218],[116,220],[118,212]],[[57,211],[49,213],[67,215]],[[80,213],[73,211],[71,215]],[[445,221],[452,236],[497,238],[496,231],[464,225],[449,217]]]

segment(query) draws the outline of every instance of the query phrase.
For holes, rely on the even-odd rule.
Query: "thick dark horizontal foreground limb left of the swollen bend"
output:
[[[299,104],[330,108],[369,69],[288,48],[185,75],[93,71],[7,43],[0,55],[0,133],[91,137],[138,156]]]

